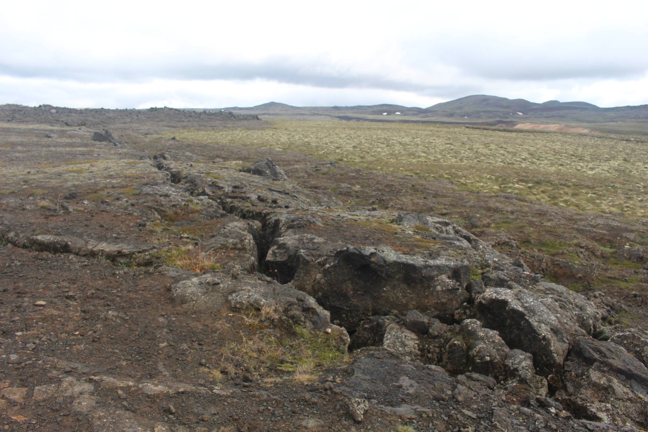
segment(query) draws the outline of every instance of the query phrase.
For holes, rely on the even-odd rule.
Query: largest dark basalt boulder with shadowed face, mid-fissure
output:
[[[389,247],[347,247],[321,268],[310,295],[353,332],[362,317],[389,315],[393,310],[430,310],[441,320],[454,312],[469,294],[470,266],[452,258],[424,260]]]

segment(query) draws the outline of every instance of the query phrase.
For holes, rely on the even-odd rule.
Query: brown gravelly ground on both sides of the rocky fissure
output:
[[[194,264],[220,286],[286,286],[276,283],[290,282],[281,280],[287,276],[279,258],[274,267],[265,263],[272,238],[260,234],[286,211],[293,220],[316,221],[292,222],[291,235],[386,245],[412,259],[463,260],[469,271],[490,274],[475,267],[476,251],[441,247],[444,238],[429,229],[394,222],[398,214],[431,214],[475,234],[492,253],[521,258],[529,278],[542,275],[591,299],[594,292],[611,297],[617,310],[607,324],[648,330],[647,221],[466,192],[445,181],[366,172],[301,153],[159,138],[178,127],[261,128],[259,120],[172,110],[75,115],[45,107],[0,117],[3,430],[604,427],[605,419],[579,415],[566,403],[563,411],[548,397],[500,389],[500,378],[496,386],[480,374],[448,375],[378,348],[338,352],[316,333],[333,328],[335,335],[336,316],[318,328],[273,317],[259,304],[188,307],[172,287],[203,274],[191,271]],[[108,141],[93,140],[104,128]],[[260,183],[249,174],[265,157],[289,183]],[[241,222],[247,228],[238,237],[221,231]],[[316,258],[305,260],[334,262],[332,255]],[[300,274],[290,275],[298,288],[308,280]],[[303,290],[321,302],[321,293]],[[369,317],[379,309],[371,302],[369,308]],[[390,315],[382,308],[380,315]],[[392,319],[402,324],[406,312]],[[445,324],[464,318],[455,316]],[[554,394],[560,393],[550,387],[548,396]],[[370,408],[363,409],[363,400]],[[643,424],[612,423],[619,431]]]

